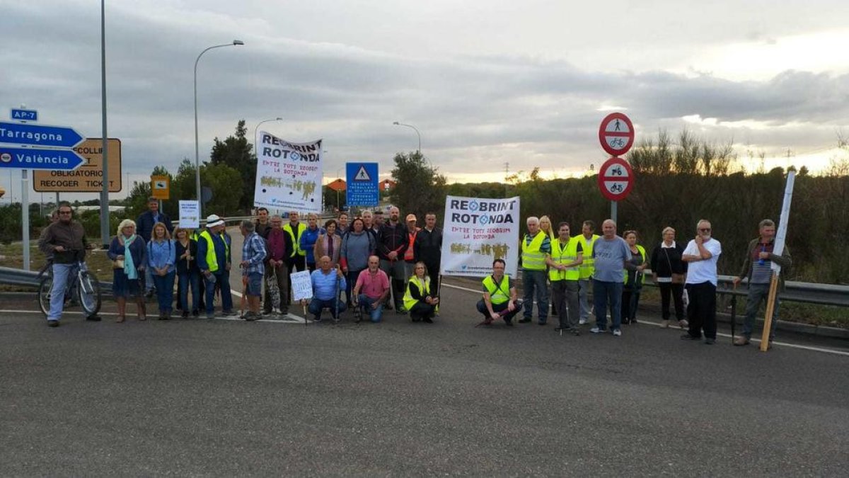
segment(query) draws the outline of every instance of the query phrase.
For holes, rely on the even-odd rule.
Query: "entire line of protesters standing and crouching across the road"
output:
[[[66,256],[78,260],[85,254],[84,231],[72,221],[70,205],[63,203],[58,211],[58,220],[44,230],[39,242],[42,251],[53,256],[56,291],[65,287],[63,275],[56,274],[57,267],[67,265],[70,259],[65,260]],[[239,225],[244,236],[239,269],[248,309],[243,318],[253,321],[288,314],[290,276],[309,270],[312,299],[308,310],[313,321],[321,320],[323,310],[338,320],[341,313],[352,309],[357,322],[363,315],[380,322],[384,310],[394,309],[409,314],[413,322],[432,323],[440,304],[442,231],[436,226],[436,213],[425,214],[424,227],[419,227],[414,214],[408,214],[404,222],[400,218],[399,209],[391,207],[386,218],[380,209],[364,210],[351,221],[348,213],[342,212],[319,225],[318,216],[309,213],[304,224],[296,211],[290,211],[284,221],[259,208],[256,221]],[[711,236],[710,221],[698,221],[696,234],[686,246],[676,242],[676,230],[664,228],[662,241],[650,254],[638,243],[637,231],[626,230],[618,236],[612,219],[604,220],[600,236],[595,234],[593,220],[583,221],[576,236],[566,222],[554,229],[547,216],[527,218],[526,227],[520,239],[523,297],[519,299],[514,278],[505,274],[505,261],[495,259],[492,274],[482,282],[483,297],[477,310],[483,322],[478,325],[490,326],[500,319],[512,326],[520,312],[518,322],[529,323],[536,306],[537,323],[544,326],[550,305],[551,315],[558,316],[555,331],[559,333],[580,335],[579,326],[589,324],[590,333],[610,330],[613,336],[621,336],[623,324],[638,322],[640,294],[650,270],[651,280],[661,292],[661,326],[672,324],[674,308],[678,327],[686,329],[682,339],[716,342],[717,259],[722,246]],[[773,253],[773,221],[762,220],[759,232],[746,252],[744,270],[734,278],[735,285],[744,278],[749,285],[743,334],[734,340],[737,345],[749,344],[758,307],[767,300],[772,262],[784,268],[791,264],[787,248],[780,255]],[[218,215],[209,215],[200,230],[175,230],[159,211],[158,201],[150,198],[149,210],[137,221],[121,221],[107,252],[113,261],[116,322],[126,320],[130,298],[136,300],[138,319],[145,320],[143,296],[154,293],[159,318],[170,319],[175,282],[177,306],[184,318],[200,316],[201,311],[214,318],[216,294],[221,297],[222,316],[238,316],[229,280],[232,244]],[[70,251],[74,254],[69,255]],[[780,285],[783,287],[783,281]],[[48,324],[55,327],[61,304],[53,309],[52,305]],[[773,310],[777,316],[778,300]],[[594,324],[590,323],[591,314]]]

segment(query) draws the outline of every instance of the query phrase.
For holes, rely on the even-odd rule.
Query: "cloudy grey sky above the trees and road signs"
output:
[[[2,114],[99,136],[100,3],[0,12]],[[108,0],[109,134],[131,180],[194,159],[194,60],[239,39],[200,60],[201,158],[240,118],[283,117],[263,128],[323,138],[328,180],[346,161],[388,173],[418,146],[398,121],[449,180],[567,177],[606,159],[599,122],[622,111],[638,139],[688,127],[816,170],[849,134],[847,18],[842,0]]]

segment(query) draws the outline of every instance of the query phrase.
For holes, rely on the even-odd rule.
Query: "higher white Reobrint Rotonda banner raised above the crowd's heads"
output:
[[[322,208],[322,140],[290,143],[256,133],[254,206],[319,213]]]

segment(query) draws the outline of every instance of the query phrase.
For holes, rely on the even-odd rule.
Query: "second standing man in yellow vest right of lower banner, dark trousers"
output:
[[[552,303],[558,310],[560,321],[559,327],[554,330],[559,333],[569,330],[581,335],[578,330],[578,280],[581,277],[579,266],[583,263],[583,247],[580,238],[569,236],[569,223],[561,222],[557,234],[557,241],[551,243],[551,253],[545,259]],[[566,304],[569,305],[568,312]]]

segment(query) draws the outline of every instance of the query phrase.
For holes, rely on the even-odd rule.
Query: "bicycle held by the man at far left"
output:
[[[48,263],[38,271],[37,278],[39,280],[38,305],[46,317],[50,312],[50,291],[53,289],[53,260],[48,260]],[[63,308],[76,304],[82,305],[82,310],[86,312],[87,317],[96,316],[100,311],[100,282],[92,276],[82,260],[76,262],[68,275]]]

